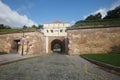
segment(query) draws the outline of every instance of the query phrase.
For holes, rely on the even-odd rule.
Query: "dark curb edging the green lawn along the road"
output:
[[[113,66],[113,65],[110,65],[110,64],[106,64],[106,63],[103,63],[103,62],[100,62],[100,61],[96,61],[96,60],[93,60],[93,59],[89,59],[87,57],[84,57],[84,56],[80,56],[84,59],[86,59],[87,61],[90,61],[98,66],[101,66],[101,67],[104,67],[104,68],[107,68],[109,69],[110,71],[114,71],[116,72],[118,75],[120,75],[120,67],[117,67],[117,66]]]

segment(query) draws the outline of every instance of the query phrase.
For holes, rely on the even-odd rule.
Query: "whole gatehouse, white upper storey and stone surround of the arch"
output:
[[[66,47],[65,39],[67,38],[67,27],[70,27],[69,23],[55,21],[52,23],[43,24],[43,33],[46,37],[46,53],[52,53],[52,42],[59,40],[62,44],[61,47]],[[55,42],[56,43],[56,42]],[[59,44],[59,42],[57,42]],[[57,44],[56,43],[56,44]],[[61,50],[65,51],[65,49]]]

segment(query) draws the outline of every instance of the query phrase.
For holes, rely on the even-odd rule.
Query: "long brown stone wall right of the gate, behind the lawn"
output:
[[[70,29],[70,55],[120,53],[120,27]]]

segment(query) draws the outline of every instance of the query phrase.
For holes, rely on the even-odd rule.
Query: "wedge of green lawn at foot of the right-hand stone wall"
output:
[[[120,67],[120,54],[83,54],[81,56]]]

